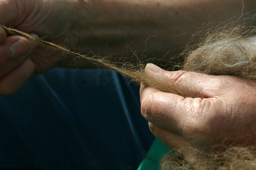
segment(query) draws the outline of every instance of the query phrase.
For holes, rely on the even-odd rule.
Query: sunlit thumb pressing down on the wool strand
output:
[[[227,82],[224,77],[217,77],[196,72],[186,71],[165,71],[154,64],[147,64],[145,73],[155,81],[163,82],[163,79],[169,81],[170,88],[175,86],[186,94],[191,96],[202,96],[211,98],[222,95],[222,89],[226,89]],[[168,81],[167,82],[168,84]],[[225,88],[224,88],[225,87]]]

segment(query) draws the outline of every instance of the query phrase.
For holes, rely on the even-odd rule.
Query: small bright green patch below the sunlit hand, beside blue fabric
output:
[[[137,170],[159,170],[158,161],[169,151],[171,149],[166,147],[160,140],[155,139]]]

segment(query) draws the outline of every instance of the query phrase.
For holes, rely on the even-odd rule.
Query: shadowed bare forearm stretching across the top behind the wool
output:
[[[76,4],[72,38],[80,43],[72,49],[121,56],[131,44],[141,54],[145,40],[155,36],[147,41],[147,57],[179,53],[203,23],[226,21],[243,8],[241,0],[78,0]],[[243,13],[254,9],[252,0],[243,4]]]

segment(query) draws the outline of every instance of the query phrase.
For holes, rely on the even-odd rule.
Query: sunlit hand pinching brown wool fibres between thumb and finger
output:
[[[146,74],[201,98],[183,98],[141,85],[141,114],[151,132],[169,148],[251,145],[256,142],[256,82],[233,76],[168,72],[153,64]],[[171,83],[170,83],[171,85]]]

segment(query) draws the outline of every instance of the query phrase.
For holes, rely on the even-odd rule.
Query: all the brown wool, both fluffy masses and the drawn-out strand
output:
[[[1,26],[1,25],[0,25]],[[179,94],[184,97],[196,97],[182,89],[167,78],[156,82],[145,74],[145,64],[152,60],[142,61],[137,56],[132,61],[117,60],[110,57],[89,57],[74,53],[59,45],[36,39],[18,30],[1,26],[10,35],[24,36],[37,42],[41,47],[54,48],[78,58],[84,58],[93,64],[110,68],[130,78],[135,83],[155,87],[161,91]],[[180,54],[184,57],[182,70],[200,72],[211,75],[232,75],[256,80],[256,28],[236,26],[219,32],[207,32],[208,36],[199,44],[187,47]],[[173,64],[172,64],[173,65]],[[200,96],[201,97],[201,96]],[[219,146],[213,146],[219,147]],[[186,148],[168,153],[160,162],[162,170],[254,170],[256,169],[256,146],[221,146],[224,151],[204,153],[189,148],[190,155],[182,157]]]

